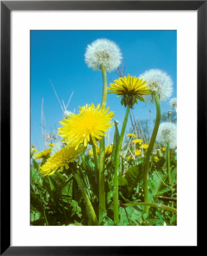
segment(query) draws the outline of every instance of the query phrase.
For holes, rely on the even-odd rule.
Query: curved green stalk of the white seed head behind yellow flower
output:
[[[148,194],[148,171],[150,167],[150,155],[152,153],[152,149],[155,143],[156,135],[158,134],[158,129],[160,125],[160,118],[161,118],[161,110],[160,110],[160,100],[159,96],[154,94],[155,99],[155,105],[156,105],[156,120],[155,120],[155,126],[152,131],[152,137],[150,139],[149,147],[147,148],[147,154],[144,164],[144,178],[143,178],[143,189],[144,189],[144,202],[149,203],[149,194]],[[148,206],[144,206],[144,212],[148,212]]]

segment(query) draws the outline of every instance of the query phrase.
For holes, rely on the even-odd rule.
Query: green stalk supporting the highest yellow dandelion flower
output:
[[[126,124],[129,116],[129,105],[127,105],[125,119],[122,125],[121,135],[119,137],[117,152],[115,155],[115,166],[114,166],[114,222],[119,223],[119,205],[118,205],[118,193],[119,193],[119,158],[122,150],[123,137],[125,135]]]

